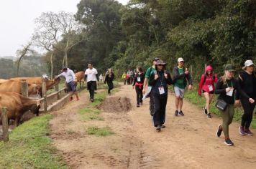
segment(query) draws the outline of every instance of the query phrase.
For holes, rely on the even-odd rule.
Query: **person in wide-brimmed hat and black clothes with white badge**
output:
[[[173,84],[170,74],[165,72],[165,62],[158,60],[155,64],[156,71],[150,75],[151,94],[153,99],[153,122],[156,130],[161,131],[165,125],[165,110],[168,100],[168,84]]]

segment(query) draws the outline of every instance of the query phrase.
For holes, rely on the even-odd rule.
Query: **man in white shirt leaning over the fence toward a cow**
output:
[[[66,85],[68,87],[68,93],[69,93],[69,96],[70,96],[70,100],[73,100],[73,95],[75,94],[76,95],[76,100],[79,100],[79,97],[78,97],[78,92],[76,92],[76,76],[73,72],[73,70],[71,69],[68,69],[67,67],[64,67],[63,72],[60,73],[57,77],[55,77],[55,79],[57,79],[58,77],[65,77],[65,82],[66,82]]]

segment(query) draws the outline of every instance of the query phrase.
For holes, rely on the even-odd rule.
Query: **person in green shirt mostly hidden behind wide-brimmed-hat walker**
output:
[[[149,79],[150,79],[150,75],[152,74],[152,72],[155,72],[155,64],[156,62],[160,60],[158,57],[155,57],[153,59],[153,65],[149,68],[147,68],[147,71],[145,73],[145,79],[144,79],[144,84],[143,84],[143,90],[142,93],[143,95],[145,94],[146,90],[151,90],[151,86],[149,84]],[[152,99],[151,99],[151,95],[150,95],[150,115],[154,115],[153,112],[153,107],[152,107]]]

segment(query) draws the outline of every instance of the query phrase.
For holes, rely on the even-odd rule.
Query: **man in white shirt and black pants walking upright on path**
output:
[[[88,69],[86,69],[86,72],[84,74],[84,79],[87,82],[87,90],[89,90],[90,92],[90,100],[91,102],[93,102],[94,90],[96,90],[97,81],[99,82],[98,72],[95,68],[93,68],[93,64],[89,63]]]

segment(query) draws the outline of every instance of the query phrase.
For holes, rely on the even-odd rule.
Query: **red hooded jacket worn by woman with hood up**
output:
[[[214,69],[209,65],[206,67],[206,72],[205,74],[202,74],[199,87],[198,87],[198,95],[201,96],[201,90],[204,90],[205,92],[214,92],[215,87],[214,83],[218,81],[218,77],[216,74],[208,76],[207,71],[211,70],[211,72],[214,71]],[[211,88],[212,87],[212,88]],[[210,91],[211,89],[211,91]]]

